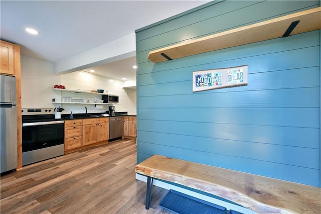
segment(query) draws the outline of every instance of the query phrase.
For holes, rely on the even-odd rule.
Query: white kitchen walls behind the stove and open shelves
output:
[[[61,100],[61,96],[73,98],[88,97],[95,99],[96,94],[54,91],[55,84],[65,85],[67,89],[96,90],[104,89],[109,94],[119,96],[119,103],[114,104],[116,112],[128,112],[136,115],[136,92],[132,89],[123,89],[123,81],[83,72],[56,75],[53,63],[21,55],[22,75],[22,108],[55,108],[62,106],[62,114],[104,113],[109,105],[100,105],[103,109],[95,109],[93,104],[60,104],[52,103],[52,99]]]

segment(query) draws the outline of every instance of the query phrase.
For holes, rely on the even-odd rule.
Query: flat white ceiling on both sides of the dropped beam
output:
[[[58,62],[210,1],[0,1],[1,39],[21,53]],[[39,31],[33,36],[30,27]],[[88,68],[115,79],[135,79],[135,57]]]

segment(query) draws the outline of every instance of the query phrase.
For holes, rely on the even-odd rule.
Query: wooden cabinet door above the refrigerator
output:
[[[14,46],[1,42],[0,73],[14,75]]]

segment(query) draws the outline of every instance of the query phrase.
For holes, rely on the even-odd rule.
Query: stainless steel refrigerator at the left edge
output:
[[[0,75],[0,171],[17,169],[16,77]]]

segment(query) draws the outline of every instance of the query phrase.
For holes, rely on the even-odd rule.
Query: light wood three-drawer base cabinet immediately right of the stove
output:
[[[83,146],[81,119],[65,121],[65,151]]]

